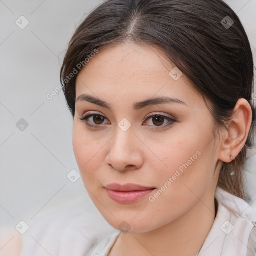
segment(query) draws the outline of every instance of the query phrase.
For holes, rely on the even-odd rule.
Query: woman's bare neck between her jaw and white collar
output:
[[[120,233],[109,256],[195,256],[215,219],[214,196],[202,198],[178,219],[146,233]]]

